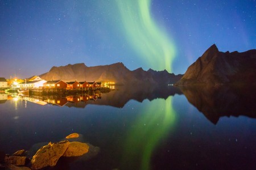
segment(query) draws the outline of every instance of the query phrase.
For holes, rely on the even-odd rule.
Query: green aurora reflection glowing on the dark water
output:
[[[150,169],[152,152],[159,140],[171,133],[175,125],[176,113],[172,109],[171,96],[166,100],[158,99],[144,103],[144,107],[135,118],[135,126],[127,132],[123,160],[125,167],[139,161],[141,169]]]

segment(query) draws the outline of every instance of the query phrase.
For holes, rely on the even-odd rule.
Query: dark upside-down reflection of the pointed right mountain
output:
[[[255,86],[182,86],[181,91],[213,124],[222,116],[256,118]]]

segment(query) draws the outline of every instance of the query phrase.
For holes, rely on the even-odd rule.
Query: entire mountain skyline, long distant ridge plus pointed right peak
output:
[[[168,71],[129,70],[122,62],[88,67],[84,63],[53,66],[40,75],[46,80],[115,82],[116,84],[256,84],[256,50],[246,52],[219,52],[213,44],[188,67],[184,75]]]

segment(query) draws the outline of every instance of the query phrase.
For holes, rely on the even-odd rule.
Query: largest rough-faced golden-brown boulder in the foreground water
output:
[[[59,143],[49,142],[47,146],[40,148],[33,156],[31,160],[31,168],[40,169],[47,166],[55,166],[59,158],[67,150],[68,145],[68,141],[62,141]]]

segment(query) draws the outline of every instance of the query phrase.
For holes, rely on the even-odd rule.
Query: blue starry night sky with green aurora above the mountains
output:
[[[256,1],[0,1],[0,77],[122,62],[184,74],[210,45],[256,48]]]

